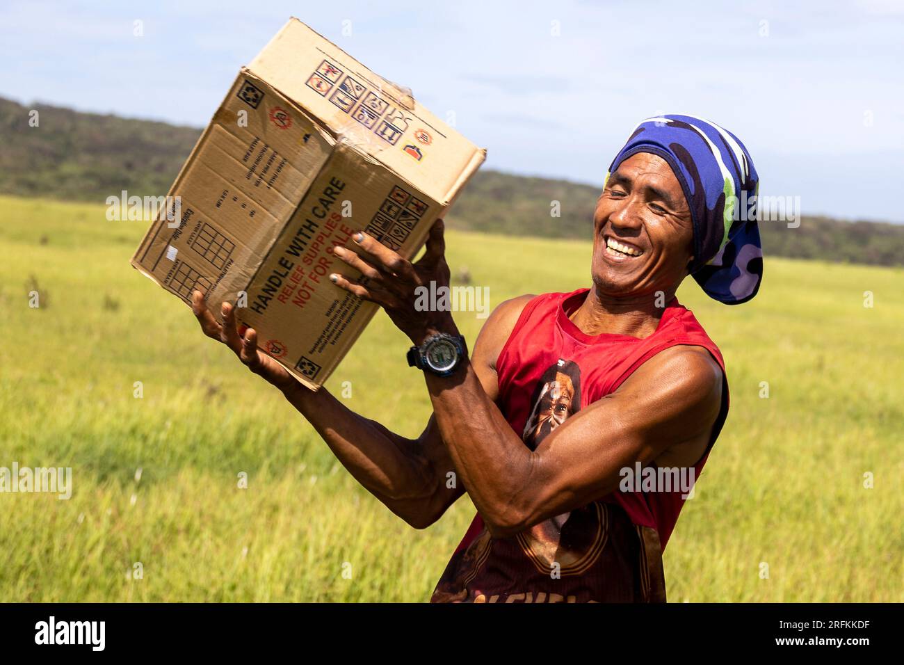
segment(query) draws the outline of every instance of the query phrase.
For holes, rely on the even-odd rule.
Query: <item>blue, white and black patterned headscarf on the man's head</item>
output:
[[[744,144],[701,118],[645,119],[612,161],[609,173],[639,152],[662,157],[681,183],[693,220],[693,279],[711,298],[728,305],[757,295],[763,279],[756,208],[759,179]]]

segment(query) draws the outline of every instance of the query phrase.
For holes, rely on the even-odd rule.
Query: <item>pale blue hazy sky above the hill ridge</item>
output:
[[[487,167],[600,185],[639,120],[688,113],[744,141],[761,195],[904,222],[901,1],[5,0],[0,96],[202,127],[290,15],[454,110]]]

